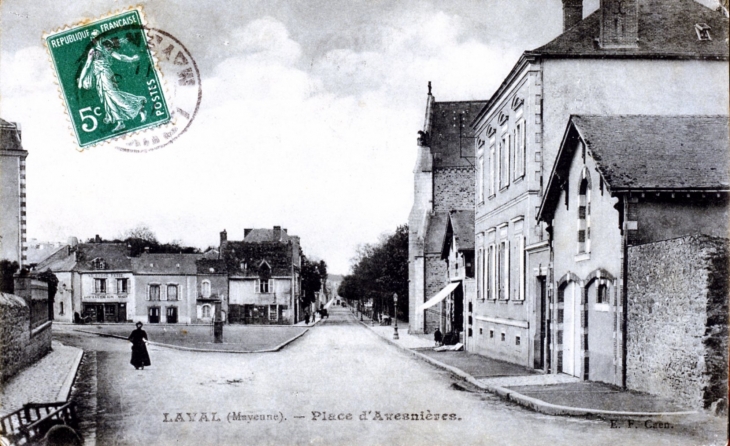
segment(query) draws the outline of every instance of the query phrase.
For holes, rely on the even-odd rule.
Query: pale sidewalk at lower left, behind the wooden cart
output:
[[[53,350],[5,383],[0,392],[0,415],[7,415],[26,403],[66,401],[71,391],[83,350],[52,342]]]

